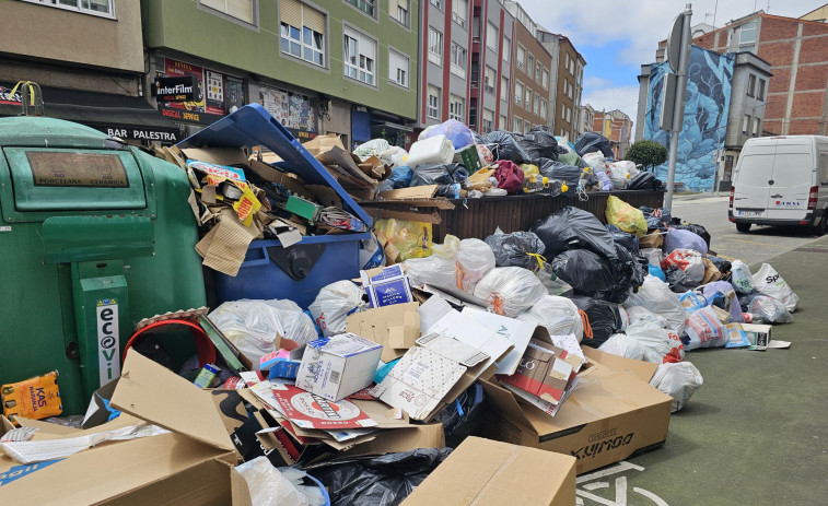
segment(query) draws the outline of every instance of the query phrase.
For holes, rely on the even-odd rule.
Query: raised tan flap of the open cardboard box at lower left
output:
[[[135,350],[127,352],[112,405],[212,447],[235,449],[210,392]]]

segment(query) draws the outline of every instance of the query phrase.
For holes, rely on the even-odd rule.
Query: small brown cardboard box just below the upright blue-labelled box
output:
[[[394,304],[354,313],[346,320],[346,330],[382,344],[380,358],[390,362],[405,355],[419,339],[419,307],[418,303]]]

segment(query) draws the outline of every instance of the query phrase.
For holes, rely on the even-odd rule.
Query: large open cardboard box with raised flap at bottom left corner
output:
[[[113,405],[172,433],[112,442],[31,466],[2,456],[2,503],[230,504],[230,470],[237,454],[210,392],[130,350]],[[129,415],[91,431],[123,426]]]

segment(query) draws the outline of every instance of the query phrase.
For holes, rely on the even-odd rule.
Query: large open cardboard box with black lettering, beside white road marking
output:
[[[673,399],[650,386],[656,364],[615,357],[620,370],[593,361],[555,417],[483,381],[489,412],[483,435],[578,458],[578,474],[664,444]],[[632,370],[635,370],[633,373]]]

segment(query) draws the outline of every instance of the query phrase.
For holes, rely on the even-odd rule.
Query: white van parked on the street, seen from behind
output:
[[[750,225],[809,226],[828,221],[828,137],[748,139],[739,154],[727,217],[739,232]]]

